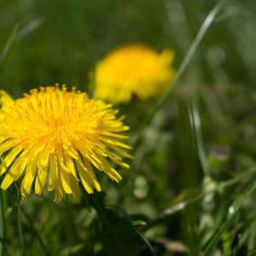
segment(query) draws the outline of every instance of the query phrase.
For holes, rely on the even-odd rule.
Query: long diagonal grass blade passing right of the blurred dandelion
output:
[[[177,70],[177,75],[173,79],[172,84],[169,85],[169,87],[166,89],[165,93],[160,97],[160,100],[156,102],[153,108],[150,109],[148,112],[148,115],[143,119],[142,125],[137,130],[137,135],[135,139],[133,140],[132,144],[134,145],[134,148],[136,148],[137,143],[139,139],[141,138],[143,131],[145,127],[154,119],[154,115],[160,110],[160,108],[163,106],[163,104],[166,102],[166,100],[171,95],[172,91],[176,88],[177,82],[181,79],[183,76],[183,73],[185,72],[186,68],[189,66],[189,62],[192,60],[192,57],[195,55],[195,51],[198,48],[199,44],[201,43],[202,38],[206,34],[209,26],[211,26],[212,21],[218,14],[218,11],[223,6],[224,2],[226,0],[222,0],[218,2],[215,7],[211,10],[211,12],[207,15],[206,20],[204,20],[199,32],[196,35],[196,38],[194,42],[191,44],[188,53],[185,55],[183,62],[181,66]]]

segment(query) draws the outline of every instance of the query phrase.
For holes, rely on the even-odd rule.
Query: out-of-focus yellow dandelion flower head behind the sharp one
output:
[[[142,44],[113,50],[96,65],[96,98],[127,103],[133,94],[140,99],[159,94],[175,76],[173,58],[171,49],[158,53]]]

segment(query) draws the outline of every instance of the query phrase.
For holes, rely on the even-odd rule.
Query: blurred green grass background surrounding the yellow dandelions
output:
[[[0,51],[18,27],[0,62],[0,89],[20,97],[64,83],[92,93],[96,61],[127,43],[171,48],[178,68],[216,3],[0,0]],[[100,177],[104,193],[84,195],[80,205],[53,203],[48,194],[22,202],[30,255],[153,254],[145,241],[157,255],[253,255],[255,195],[244,196],[256,176],[255,31],[255,1],[224,4],[177,90],[144,131],[131,171],[120,170],[122,183]],[[156,101],[119,106],[131,137]],[[3,252],[20,255],[15,186],[4,195]],[[131,218],[147,225],[137,228]]]

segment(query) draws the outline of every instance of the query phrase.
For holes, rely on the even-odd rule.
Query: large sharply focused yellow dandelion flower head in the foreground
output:
[[[0,155],[5,173],[2,189],[23,175],[23,198],[41,195],[44,186],[55,189],[55,199],[66,194],[80,200],[79,183],[89,193],[101,191],[94,169],[113,181],[121,176],[113,163],[129,168],[122,160],[131,157],[124,132],[129,129],[117,110],[86,93],[68,91],[65,85],[31,90],[29,95],[0,110]]]

